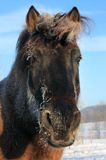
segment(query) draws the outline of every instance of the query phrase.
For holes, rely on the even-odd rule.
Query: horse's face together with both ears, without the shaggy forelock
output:
[[[69,15],[73,23],[80,19],[75,8],[67,16]],[[39,22],[37,32],[33,35],[37,21]],[[38,104],[38,119],[41,131],[46,135],[46,141],[54,147],[64,147],[74,142],[80,123],[77,101],[80,91],[81,54],[75,41],[75,34],[73,43],[64,44],[67,37],[64,37],[64,33],[58,36],[56,43],[52,38],[46,41],[45,26],[48,29],[46,23],[47,21],[41,23],[39,13],[30,9],[27,15],[28,31],[32,33],[27,42],[28,89]],[[57,26],[59,23],[56,22]],[[58,35],[58,27],[54,27],[54,33],[55,36]]]

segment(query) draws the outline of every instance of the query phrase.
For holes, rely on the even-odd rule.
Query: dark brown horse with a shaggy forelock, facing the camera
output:
[[[74,143],[83,26],[77,7],[55,15],[29,8],[15,62],[0,82],[0,160],[60,160]]]

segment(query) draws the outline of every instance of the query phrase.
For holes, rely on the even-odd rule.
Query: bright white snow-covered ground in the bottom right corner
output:
[[[106,139],[85,139],[64,151],[62,160],[106,160]]]

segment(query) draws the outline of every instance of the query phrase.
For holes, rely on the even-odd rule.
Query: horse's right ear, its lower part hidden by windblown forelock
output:
[[[67,16],[74,22],[79,22],[81,20],[80,13],[76,7],[73,7]]]

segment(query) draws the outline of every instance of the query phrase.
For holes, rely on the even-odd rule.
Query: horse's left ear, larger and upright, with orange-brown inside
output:
[[[39,20],[40,20],[39,12],[34,8],[34,6],[31,6],[26,16],[26,24],[28,32],[30,33],[34,32]]]

